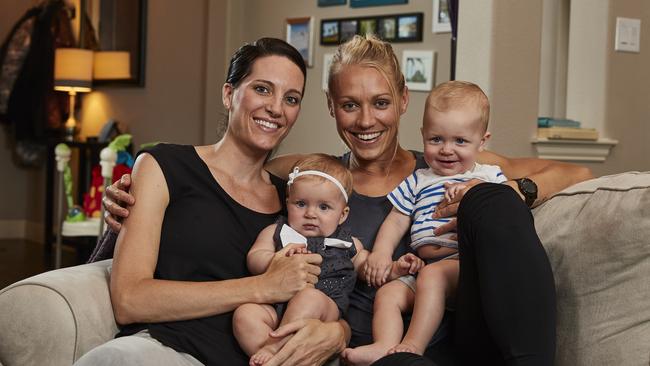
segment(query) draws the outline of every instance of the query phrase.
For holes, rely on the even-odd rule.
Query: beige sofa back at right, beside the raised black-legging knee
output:
[[[557,364],[650,364],[650,172],[583,182],[533,214],[555,275]]]

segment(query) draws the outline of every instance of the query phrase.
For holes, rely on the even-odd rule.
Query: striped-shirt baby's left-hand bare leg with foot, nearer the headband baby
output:
[[[348,348],[343,352],[343,358],[353,365],[369,365],[385,356],[402,339],[402,314],[413,308],[414,297],[413,291],[401,281],[392,281],[380,287],[375,296],[372,317],[374,343]]]

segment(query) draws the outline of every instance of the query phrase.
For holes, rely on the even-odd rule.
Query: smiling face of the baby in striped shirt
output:
[[[477,108],[438,111],[427,108],[422,127],[424,159],[434,173],[450,176],[465,173],[476,163],[490,133],[480,122]]]

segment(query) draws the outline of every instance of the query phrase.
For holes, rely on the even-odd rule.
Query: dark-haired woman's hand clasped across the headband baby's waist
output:
[[[320,275],[319,254],[287,256],[290,251],[300,250],[305,244],[290,244],[275,253],[266,272],[260,275],[260,291],[265,295],[260,302],[276,303],[288,301],[298,291],[314,286]]]

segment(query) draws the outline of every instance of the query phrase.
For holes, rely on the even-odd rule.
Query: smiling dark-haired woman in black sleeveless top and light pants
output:
[[[305,77],[302,57],[284,41],[247,44],[232,57],[222,90],[224,137],[139,154],[130,189],[138,205],[117,238],[110,281],[115,318],[125,326],[77,364],[247,364],[233,310],[287,301],[317,281],[316,254],[281,251],[264,274],[246,270],[255,238],[284,211],[286,183],[264,162],[298,117]],[[344,334],[324,334],[314,341],[343,347]]]

